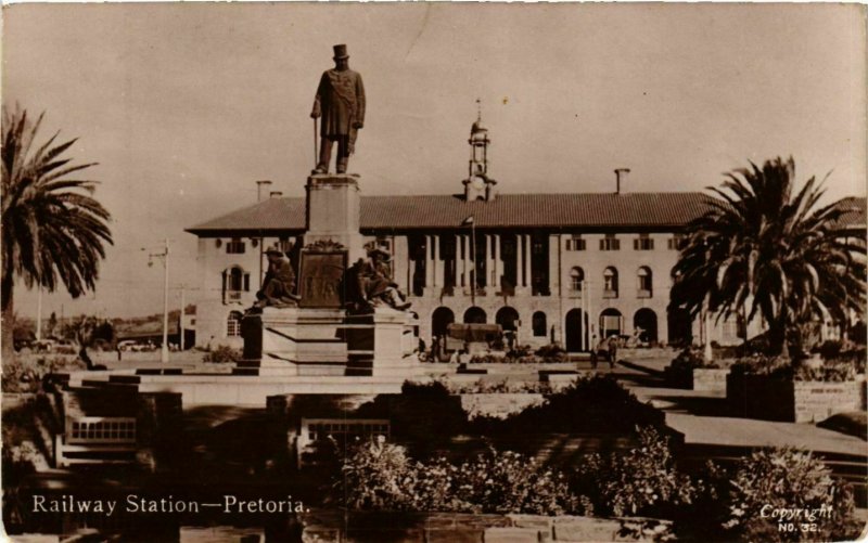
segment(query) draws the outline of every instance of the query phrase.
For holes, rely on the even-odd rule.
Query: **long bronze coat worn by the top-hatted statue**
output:
[[[329,69],[317,88],[314,111],[322,114],[320,135],[350,135],[355,122],[365,122],[365,86],[361,75],[352,69]]]

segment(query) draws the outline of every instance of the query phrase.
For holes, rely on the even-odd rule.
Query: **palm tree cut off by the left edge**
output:
[[[59,133],[34,148],[44,113],[33,122],[27,112],[3,107],[2,145],[2,315],[3,359],[12,355],[13,288],[53,292],[61,283],[73,297],[95,288],[104,244],[112,243],[111,216],[93,194],[97,183],[69,174],[95,163],[72,165],[61,155],[75,139],[54,144]]]

